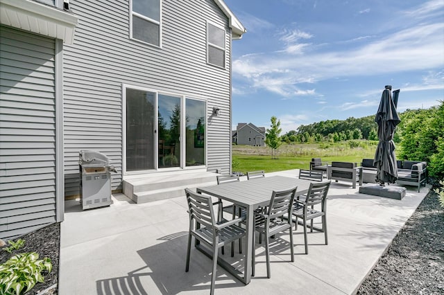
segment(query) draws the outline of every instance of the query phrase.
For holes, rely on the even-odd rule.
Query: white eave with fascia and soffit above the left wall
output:
[[[0,0],[0,23],[72,44],[78,17],[35,1]]]

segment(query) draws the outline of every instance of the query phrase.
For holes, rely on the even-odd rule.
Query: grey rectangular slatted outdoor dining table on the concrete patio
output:
[[[298,186],[296,196],[307,193],[311,181],[298,179],[293,177],[271,176],[258,179],[250,179],[248,181],[231,182],[227,184],[219,184],[216,186],[199,187],[197,193],[205,193],[225,201],[232,202],[237,206],[246,209],[246,242],[244,242],[244,274],[235,269],[230,263],[225,262],[223,258],[218,258],[218,263],[226,269],[235,278],[238,278],[244,284],[250,283],[251,280],[251,263],[253,257],[253,218],[255,209],[259,206],[268,206],[270,204],[271,194],[273,190],[286,190]],[[209,250],[196,244],[196,248],[212,258]]]

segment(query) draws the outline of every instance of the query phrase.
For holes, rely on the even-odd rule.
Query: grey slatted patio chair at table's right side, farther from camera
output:
[[[310,232],[313,230],[321,231],[325,235],[325,244],[328,244],[327,238],[327,193],[330,188],[331,180],[320,184],[311,183],[307,195],[296,199],[293,204],[293,216],[295,219],[295,230],[298,229],[298,218],[302,219],[304,225],[305,254],[308,254],[307,244],[307,221],[311,220]],[[321,204],[321,208],[314,208]],[[290,215],[289,215],[290,216]],[[315,228],[314,218],[322,217],[322,229]]]

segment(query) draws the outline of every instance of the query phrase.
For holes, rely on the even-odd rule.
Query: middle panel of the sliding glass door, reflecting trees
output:
[[[180,98],[159,94],[157,103],[158,167],[180,167]]]

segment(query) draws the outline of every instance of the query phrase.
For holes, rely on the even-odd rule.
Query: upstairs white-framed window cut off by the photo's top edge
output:
[[[160,46],[160,7],[162,0],[133,0],[131,37]]]

